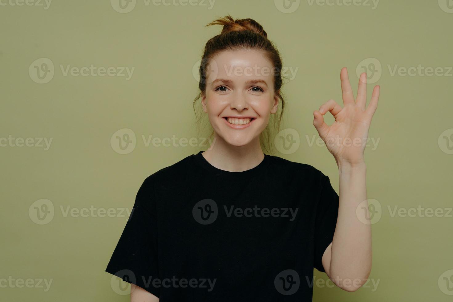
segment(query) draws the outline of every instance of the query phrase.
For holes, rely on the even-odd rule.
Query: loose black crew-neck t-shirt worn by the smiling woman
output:
[[[106,272],[160,302],[312,301],[337,223],[328,176],[270,155],[229,172],[201,153],[145,179]]]

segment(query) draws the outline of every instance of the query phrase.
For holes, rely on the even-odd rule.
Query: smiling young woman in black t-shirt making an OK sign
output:
[[[263,153],[284,98],[282,61],[262,26],[229,15],[212,24],[223,30],[205,46],[195,103],[215,142],[145,179],[106,272],[141,302],[312,301],[313,268],[357,290],[371,271],[363,142],[379,86],[365,108],[366,74],[354,100],[342,68],[344,107],[329,100],[313,112],[338,196],[313,166]]]

